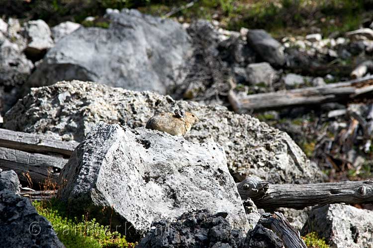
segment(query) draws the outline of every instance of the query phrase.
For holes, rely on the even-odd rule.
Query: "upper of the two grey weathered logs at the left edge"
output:
[[[0,128],[0,146],[27,152],[61,154],[70,157],[76,141],[62,141],[53,135],[16,132]]]

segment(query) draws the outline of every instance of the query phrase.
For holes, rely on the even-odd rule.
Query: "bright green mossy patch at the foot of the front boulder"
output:
[[[124,248],[132,244],[118,232],[110,232],[109,227],[102,226],[87,216],[82,219],[69,219],[64,205],[57,199],[32,202],[40,215],[52,223],[60,241],[67,248]]]

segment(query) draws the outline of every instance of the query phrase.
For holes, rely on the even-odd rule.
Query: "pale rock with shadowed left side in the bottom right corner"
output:
[[[372,248],[373,211],[329,204],[309,213],[302,233],[317,232],[331,248]]]

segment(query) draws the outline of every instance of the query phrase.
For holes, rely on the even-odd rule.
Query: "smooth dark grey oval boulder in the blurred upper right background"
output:
[[[285,63],[283,47],[263,29],[250,29],[247,33],[247,42],[266,62],[273,66]]]

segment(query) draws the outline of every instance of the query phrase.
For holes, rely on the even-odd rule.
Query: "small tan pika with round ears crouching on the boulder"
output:
[[[164,112],[149,119],[146,128],[168,132],[171,135],[184,136],[193,124],[198,123],[198,118],[183,109],[176,109],[174,114]]]

